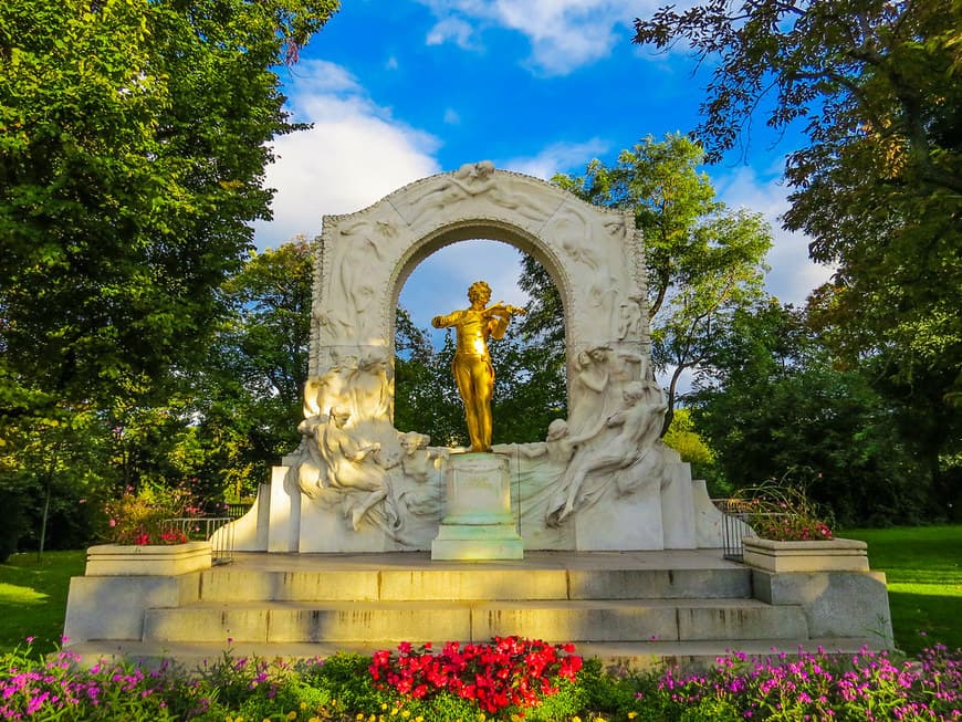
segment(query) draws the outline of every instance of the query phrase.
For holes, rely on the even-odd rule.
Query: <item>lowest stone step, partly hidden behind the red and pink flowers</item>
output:
[[[441,641],[438,642],[440,648]],[[234,658],[325,659],[338,651],[370,655],[378,649],[395,649],[396,645],[363,643],[265,643],[198,641],[111,641],[83,642],[67,648],[77,662],[92,667],[101,660],[127,660],[143,667],[156,668],[165,659],[176,659],[186,669],[208,669],[229,651]],[[659,671],[665,667],[681,667],[687,671],[707,669],[720,657],[740,651],[751,658],[777,658],[785,653],[794,657],[799,650],[815,652],[819,648],[829,653],[851,655],[862,648],[880,650],[883,646],[875,638],[832,637],[823,639],[732,639],[725,641],[628,641],[586,642],[576,645],[575,652],[586,659],[597,658],[609,669]]]

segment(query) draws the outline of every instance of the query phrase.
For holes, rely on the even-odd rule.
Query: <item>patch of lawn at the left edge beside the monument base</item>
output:
[[[0,653],[30,636],[42,653],[60,645],[70,578],[84,572],[86,552],[14,554],[0,564]]]

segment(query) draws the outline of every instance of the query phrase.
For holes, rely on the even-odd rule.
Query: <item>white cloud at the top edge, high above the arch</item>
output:
[[[531,43],[532,67],[547,75],[564,75],[606,57],[617,43],[629,42],[637,13],[659,3],[641,0],[626,9],[620,0],[420,0],[438,18],[429,44],[453,40],[477,49],[479,31],[506,28]]]

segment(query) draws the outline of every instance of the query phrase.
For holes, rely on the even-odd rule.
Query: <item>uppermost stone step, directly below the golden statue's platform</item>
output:
[[[700,599],[752,596],[751,571],[551,569],[249,569],[216,567],[199,578],[206,601],[408,601],[510,599]]]

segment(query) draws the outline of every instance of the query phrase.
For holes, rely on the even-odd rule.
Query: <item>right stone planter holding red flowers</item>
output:
[[[850,538],[817,542],[742,540],[744,562],[765,572],[868,572],[868,546]]]

